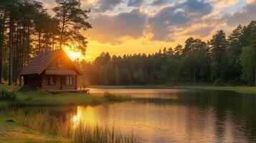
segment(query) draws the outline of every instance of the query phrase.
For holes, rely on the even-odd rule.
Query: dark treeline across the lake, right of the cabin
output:
[[[190,37],[184,46],[155,54],[111,57],[107,52],[80,64],[90,84],[255,85],[256,21],[238,25],[227,37],[219,30],[207,42]]]

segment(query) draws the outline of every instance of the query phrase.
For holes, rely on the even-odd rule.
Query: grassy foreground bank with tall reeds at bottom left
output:
[[[74,121],[62,121],[48,112],[0,112],[0,142],[74,142],[136,143],[131,135],[123,135],[113,127],[100,127]]]

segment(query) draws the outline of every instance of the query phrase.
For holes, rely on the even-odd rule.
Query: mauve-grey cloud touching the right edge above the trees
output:
[[[224,19],[227,19],[229,26],[248,24],[250,21],[256,19],[256,1],[250,1],[250,4],[244,6],[240,11],[229,14]]]

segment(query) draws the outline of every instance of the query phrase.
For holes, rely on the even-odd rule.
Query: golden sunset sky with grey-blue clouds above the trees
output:
[[[40,0],[54,16],[54,0]],[[85,59],[110,54],[154,53],[184,44],[189,36],[209,39],[217,30],[229,34],[237,24],[256,19],[256,0],[81,0],[91,9],[93,29]]]

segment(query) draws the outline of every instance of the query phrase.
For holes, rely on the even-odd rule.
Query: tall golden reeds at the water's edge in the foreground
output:
[[[23,112],[22,110],[13,112],[2,112],[1,116],[9,117],[14,122],[24,124],[25,127],[34,129],[37,132],[50,134],[51,136],[64,137],[75,143],[137,143],[133,133],[123,135],[117,132],[114,127],[100,127],[98,125],[74,122],[72,117],[62,121],[49,115],[48,112]]]

